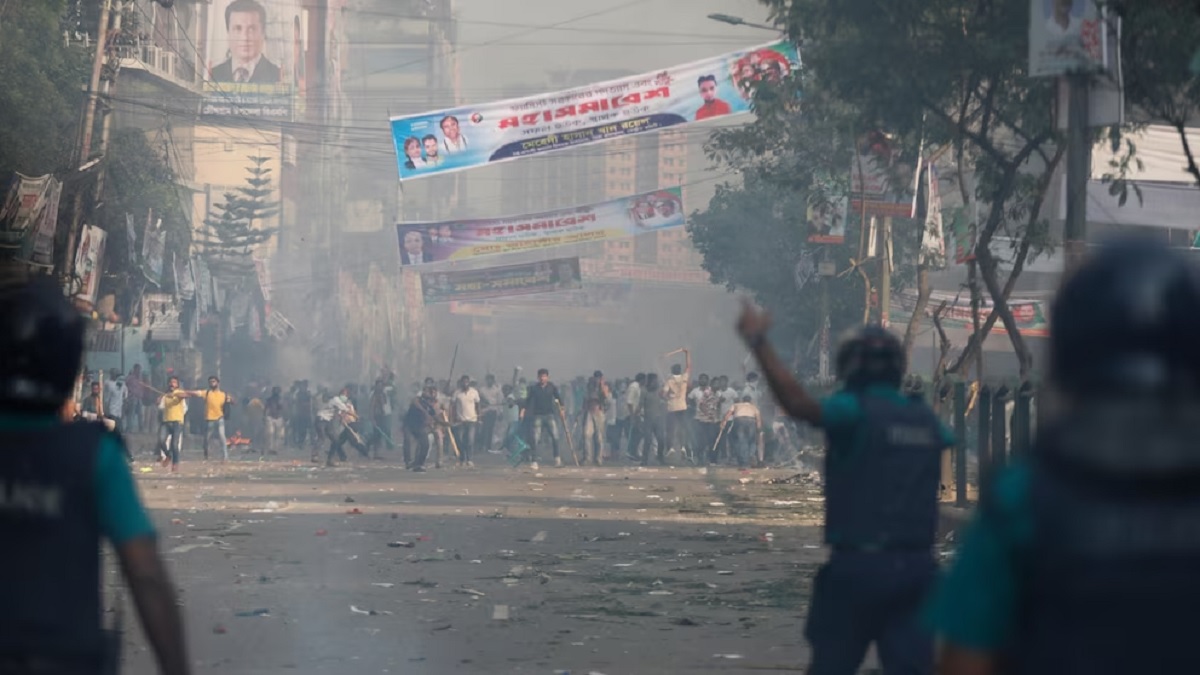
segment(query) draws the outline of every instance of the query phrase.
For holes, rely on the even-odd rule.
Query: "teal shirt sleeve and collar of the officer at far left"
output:
[[[0,430],[38,429],[62,424],[54,416],[0,416]],[[96,454],[96,514],[100,531],[113,545],[140,537],[154,537],[155,528],[142,506],[133,474],[125,461],[125,443],[116,434],[106,434]]]

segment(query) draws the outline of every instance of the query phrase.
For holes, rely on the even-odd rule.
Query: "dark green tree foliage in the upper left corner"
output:
[[[73,167],[90,55],[64,43],[66,16],[66,0],[0,2],[0,177]]]

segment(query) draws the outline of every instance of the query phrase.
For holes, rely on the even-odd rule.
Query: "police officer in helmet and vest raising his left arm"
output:
[[[830,554],[812,583],[808,673],[857,673],[872,643],[886,674],[932,673],[932,635],[918,610],[936,575],[940,456],[954,438],[928,405],[900,392],[904,348],[886,329],[862,328],[840,345],[841,389],[817,400],[767,342],[769,325],[748,303],[738,331],[780,406],[827,438]]]

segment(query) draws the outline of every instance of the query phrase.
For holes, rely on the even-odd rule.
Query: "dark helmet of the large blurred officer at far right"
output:
[[[1200,390],[1200,276],[1183,253],[1142,239],[1106,245],[1051,311],[1050,376],[1084,396]]]

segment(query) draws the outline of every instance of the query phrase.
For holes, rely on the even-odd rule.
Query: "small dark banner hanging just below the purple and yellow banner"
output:
[[[485,269],[421,274],[425,304],[484,300],[583,287],[580,258],[556,258]]]

